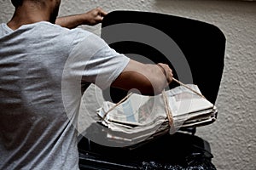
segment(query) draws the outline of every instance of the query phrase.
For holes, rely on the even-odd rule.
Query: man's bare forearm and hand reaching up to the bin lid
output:
[[[101,23],[103,17],[107,13],[102,8],[94,8],[84,14],[74,14],[69,16],[63,16],[56,19],[55,24],[67,27],[69,29],[75,28],[81,25],[95,26]]]

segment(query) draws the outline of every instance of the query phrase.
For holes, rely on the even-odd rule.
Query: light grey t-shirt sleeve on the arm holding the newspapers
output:
[[[95,83],[102,89],[108,88],[119,77],[130,60],[92,33],[75,45],[69,58],[74,76],[81,77],[82,83]]]

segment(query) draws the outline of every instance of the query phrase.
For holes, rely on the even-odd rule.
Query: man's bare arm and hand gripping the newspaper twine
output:
[[[144,95],[160,94],[172,82],[172,70],[168,65],[149,65],[130,60],[125,70],[112,83],[112,87],[131,90]]]

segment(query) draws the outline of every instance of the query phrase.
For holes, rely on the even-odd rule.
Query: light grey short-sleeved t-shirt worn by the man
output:
[[[81,84],[107,88],[128,62],[82,29],[0,25],[0,169],[79,169]]]

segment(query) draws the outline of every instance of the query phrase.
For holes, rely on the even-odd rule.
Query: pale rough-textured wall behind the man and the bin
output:
[[[0,22],[11,17],[10,0],[0,0]],[[256,169],[256,3],[207,0],[62,0],[60,15],[102,7],[173,14],[218,26],[227,38],[225,67],[216,105],[218,121],[197,128],[212,148],[218,169]],[[100,34],[100,25],[82,26]]]

